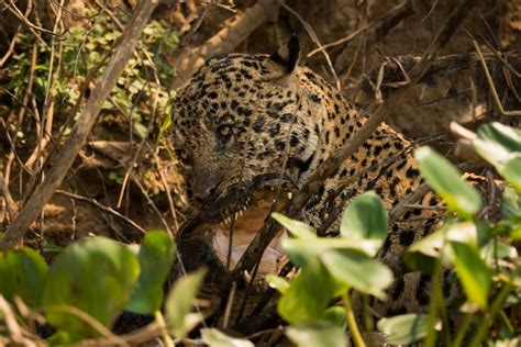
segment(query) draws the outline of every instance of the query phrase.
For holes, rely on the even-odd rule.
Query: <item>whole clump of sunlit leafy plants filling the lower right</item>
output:
[[[510,323],[506,310],[519,306],[521,293],[521,261],[510,245],[521,235],[521,132],[498,123],[487,124],[478,130],[474,146],[508,183],[502,191],[503,219],[497,223],[479,219],[483,203],[476,189],[433,149],[415,150],[421,175],[453,215],[403,255],[412,269],[432,276],[431,303],[426,315],[380,320],[377,328],[389,344],[424,340],[426,346],[436,342],[479,346],[492,328],[495,338],[501,342],[520,333]],[[331,346],[331,338],[336,336],[336,344],[344,344],[343,328],[330,322],[326,314],[328,310],[339,309],[334,303],[341,299],[353,342],[365,346],[348,293],[355,289],[385,299],[385,289],[392,281],[389,269],[373,258],[387,232],[381,200],[372,192],[354,199],[342,216],[341,239],[334,240],[317,237],[304,223],[277,213],[273,216],[295,237],[282,246],[291,261],[300,267],[290,282],[275,276],[267,278],[281,294],[278,311],[290,323],[286,329],[288,338],[299,346],[309,340],[315,340],[315,346]],[[461,286],[466,299],[459,307],[463,323],[455,336],[442,292],[443,268],[452,269],[445,281]],[[519,322],[519,315],[513,320]]]

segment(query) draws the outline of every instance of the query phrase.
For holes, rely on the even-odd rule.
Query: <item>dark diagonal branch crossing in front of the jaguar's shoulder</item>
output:
[[[367,122],[359,128],[358,132],[352,137],[346,145],[336,149],[335,153],[320,166],[310,178],[310,180],[302,187],[302,189],[295,194],[292,201],[286,205],[289,216],[297,216],[299,211],[304,206],[309,197],[318,192],[324,180],[330,177],[340,165],[353,155],[367,138],[370,137],[373,132],[380,125],[380,123],[393,112],[396,107],[403,100],[403,98],[410,93],[412,87],[414,87],[429,70],[437,54],[446,46],[453,34],[462,25],[465,16],[476,5],[476,0],[464,0],[459,2],[456,9],[453,11],[445,25],[439,32],[434,41],[431,43],[426,52],[421,57],[412,69],[409,71],[411,83],[397,90],[388,97],[386,102],[380,104],[373,113]],[[260,232],[255,236],[248,248],[244,253],[243,257],[233,270],[233,278],[241,277],[244,271],[251,271],[259,255],[264,253],[269,242],[277,233],[277,225],[275,221],[268,220]]]

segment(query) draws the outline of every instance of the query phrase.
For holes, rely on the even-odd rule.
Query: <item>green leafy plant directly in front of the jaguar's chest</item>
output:
[[[344,327],[329,320],[330,302],[342,300],[347,325],[357,346],[364,345],[355,321],[350,291],[385,299],[392,272],[374,258],[387,235],[387,212],[374,192],[353,200],[341,222],[341,238],[320,238],[311,226],[274,213],[295,238],[282,240],[282,247],[300,272],[287,284],[282,279],[268,281],[281,292],[278,312],[292,327],[288,337],[297,345],[312,338],[315,346],[331,346],[333,336],[346,340]],[[308,336],[302,338],[302,335]]]

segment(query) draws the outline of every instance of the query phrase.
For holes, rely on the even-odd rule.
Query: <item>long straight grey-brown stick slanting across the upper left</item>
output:
[[[56,164],[51,168],[47,175],[45,175],[44,181],[36,187],[16,219],[9,225],[3,238],[0,240],[0,249],[12,247],[24,236],[45,203],[62,184],[78,150],[84,146],[104,100],[118,81],[126,61],[129,61],[134,53],[134,47],[140,40],[141,31],[148,22],[148,18],[156,7],[157,0],[143,0],[135,9],[131,21],[119,38],[119,46],[115,48],[103,75],[87,101],[80,119],[73,128],[62,152],[56,156],[54,160]]]

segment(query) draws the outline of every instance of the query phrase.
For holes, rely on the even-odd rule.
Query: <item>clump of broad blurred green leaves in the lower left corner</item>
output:
[[[19,296],[30,307],[43,307],[46,322],[57,328],[52,344],[99,337],[100,326],[110,328],[123,309],[164,323],[165,302],[169,326],[182,336],[180,328],[191,329],[201,320],[190,311],[204,272],[181,279],[164,301],[174,253],[164,232],[148,232],[137,254],[104,237],[84,238],[65,248],[49,269],[33,249],[8,250],[0,253],[0,293],[12,303]]]

